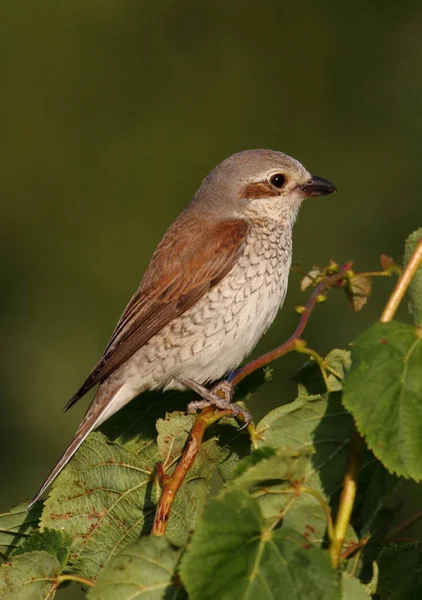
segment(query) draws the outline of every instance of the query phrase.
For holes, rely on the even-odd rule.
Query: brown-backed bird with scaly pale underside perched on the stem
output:
[[[192,388],[213,403],[205,386],[242,363],[283,305],[301,204],[336,191],[275,150],[238,152],[205,177],[158,244],[102,357],[67,403],[66,409],[99,384],[28,510],[89,433],[142,392]]]

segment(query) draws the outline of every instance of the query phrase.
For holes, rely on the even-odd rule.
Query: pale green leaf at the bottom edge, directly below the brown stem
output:
[[[182,600],[186,595],[175,577],[179,557],[166,538],[141,538],[113,556],[88,600]]]

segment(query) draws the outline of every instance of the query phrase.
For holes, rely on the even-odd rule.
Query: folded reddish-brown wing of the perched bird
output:
[[[67,410],[111,375],[169,321],[184,313],[234,267],[248,224],[208,224],[185,217],[168,230],[127,305],[103,357],[66,404]],[[188,232],[188,233],[187,233]]]

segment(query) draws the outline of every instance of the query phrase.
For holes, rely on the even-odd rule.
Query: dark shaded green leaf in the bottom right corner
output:
[[[382,600],[420,600],[422,543],[392,544],[378,559],[377,593]]]

